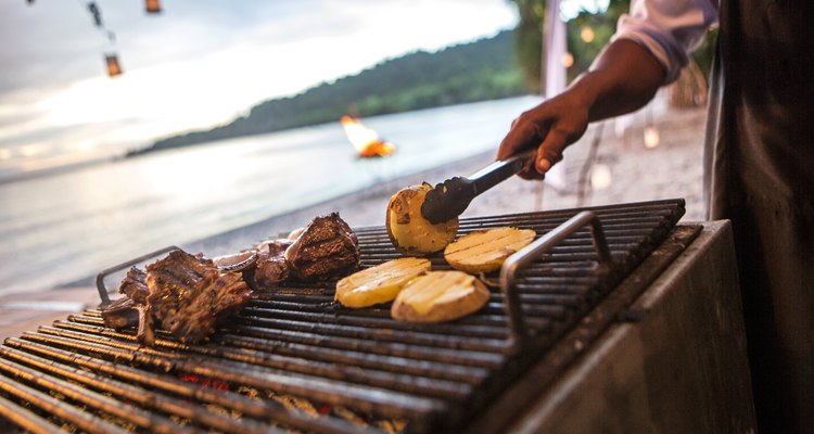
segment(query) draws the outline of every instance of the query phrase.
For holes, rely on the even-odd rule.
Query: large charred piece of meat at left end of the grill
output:
[[[212,334],[219,319],[251,298],[240,273],[221,273],[212,260],[180,250],[147,266],[147,307],[156,324],[189,343]]]

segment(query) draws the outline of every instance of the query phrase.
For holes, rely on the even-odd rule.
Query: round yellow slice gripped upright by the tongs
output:
[[[458,219],[433,225],[421,216],[421,204],[432,186],[407,187],[390,199],[385,224],[393,245],[410,256],[424,256],[442,251],[455,240]]]

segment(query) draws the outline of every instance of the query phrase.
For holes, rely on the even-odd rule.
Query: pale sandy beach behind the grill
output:
[[[564,189],[542,187],[540,182],[513,177],[476,197],[461,217],[684,197],[687,201],[684,220],[702,220],[704,207],[701,156],[704,119],[703,108],[650,106],[627,118],[631,126],[623,135],[616,133],[618,120],[592,125],[583,139],[565,151],[564,159],[560,163],[564,165]],[[644,130],[648,125],[658,128],[661,139],[660,144],[650,150],[646,149],[644,140]],[[601,136],[595,161],[605,166],[599,169],[606,173],[609,169],[610,182],[601,190],[589,191],[580,202],[577,186],[598,131]],[[254,246],[262,240],[285,234],[307,225],[315,216],[331,212],[339,212],[354,228],[381,226],[384,224],[390,196],[400,188],[422,181],[435,184],[453,176],[471,175],[493,159],[492,152],[468,157],[181,247],[189,252],[203,252],[207,256],[237,252]],[[597,170],[596,165],[594,168]],[[62,319],[69,312],[80,310],[82,305],[98,303],[99,295],[90,278],[68,288],[0,297],[0,318],[3,318],[0,321],[0,337],[35,330],[38,324],[50,324],[54,319]]]

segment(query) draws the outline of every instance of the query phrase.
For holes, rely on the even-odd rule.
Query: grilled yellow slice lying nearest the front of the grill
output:
[[[488,299],[489,291],[473,276],[430,271],[402,289],[390,314],[399,321],[450,321],[479,310]]]

